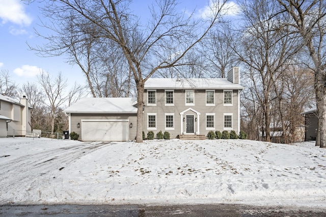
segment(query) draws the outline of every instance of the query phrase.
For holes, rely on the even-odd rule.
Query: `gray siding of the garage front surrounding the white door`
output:
[[[79,134],[79,139],[82,135],[82,120],[83,119],[94,119],[94,120],[105,120],[105,119],[128,119],[129,124],[132,123],[132,128],[129,128],[129,140],[134,140],[137,134],[137,114],[70,114],[71,132]],[[80,128],[77,128],[77,123],[80,123]],[[70,132],[69,132],[70,133]]]

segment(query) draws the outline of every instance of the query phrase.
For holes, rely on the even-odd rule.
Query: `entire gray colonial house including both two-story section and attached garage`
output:
[[[239,68],[228,78],[149,78],[145,83],[143,131],[204,134],[240,131]],[[64,111],[69,132],[82,141],[134,140],[137,102],[131,98],[83,98]]]

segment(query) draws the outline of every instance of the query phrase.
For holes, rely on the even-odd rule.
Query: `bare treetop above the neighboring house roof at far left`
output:
[[[0,93],[12,98],[17,97],[16,83],[10,79],[8,70],[1,70],[0,73]]]

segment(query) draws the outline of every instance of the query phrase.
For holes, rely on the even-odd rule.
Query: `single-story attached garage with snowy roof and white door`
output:
[[[137,134],[136,105],[135,98],[82,98],[64,112],[78,140],[124,142]]]

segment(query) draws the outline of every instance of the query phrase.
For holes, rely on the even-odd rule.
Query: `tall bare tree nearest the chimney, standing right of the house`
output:
[[[290,37],[275,29],[279,23],[275,2],[242,1],[240,8],[243,24],[232,47],[243,63],[245,70],[242,72],[247,73],[242,73],[242,78],[249,88],[242,96],[254,104],[252,115],[260,116],[255,117],[257,131],[269,142],[270,127],[275,124],[275,99],[281,96],[281,90],[276,89],[275,84],[282,79],[282,69],[299,48]]]

